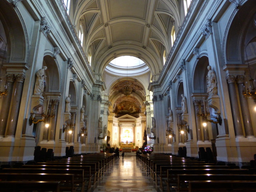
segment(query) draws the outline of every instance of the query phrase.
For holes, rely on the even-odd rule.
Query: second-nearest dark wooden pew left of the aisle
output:
[[[76,192],[74,174],[0,173],[0,181],[60,181],[60,191]]]

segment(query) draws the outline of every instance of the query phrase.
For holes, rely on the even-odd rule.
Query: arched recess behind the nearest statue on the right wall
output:
[[[207,66],[209,65],[208,57],[201,57],[196,63],[193,73],[193,90],[194,92],[206,93],[207,92]]]

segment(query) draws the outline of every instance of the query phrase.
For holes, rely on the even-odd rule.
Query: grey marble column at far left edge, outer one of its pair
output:
[[[13,82],[14,75],[8,74],[6,75],[6,85],[8,85],[7,90],[8,94],[6,97],[3,97],[1,113],[0,113],[0,137],[4,136],[5,129],[8,121],[9,109],[11,104],[11,97],[13,95]]]

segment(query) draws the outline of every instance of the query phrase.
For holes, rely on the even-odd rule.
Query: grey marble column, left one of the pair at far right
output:
[[[228,82],[228,91],[230,96],[230,102],[231,102],[231,111],[233,116],[233,123],[234,123],[234,131],[236,136],[243,136],[243,130],[242,130],[242,122],[240,117],[240,111],[239,106],[237,102],[237,93],[236,93],[236,77],[233,75],[227,76],[227,82]]]

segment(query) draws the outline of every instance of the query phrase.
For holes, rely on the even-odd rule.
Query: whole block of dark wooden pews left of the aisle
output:
[[[0,169],[0,191],[88,191],[111,167],[115,154],[94,153],[22,168]]]

